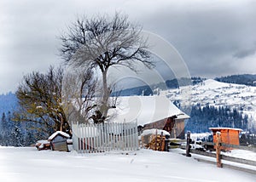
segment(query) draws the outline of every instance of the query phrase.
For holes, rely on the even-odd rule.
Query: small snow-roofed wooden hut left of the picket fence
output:
[[[49,136],[49,143],[53,151],[68,151],[67,139],[69,139],[69,134],[65,132],[57,131]]]

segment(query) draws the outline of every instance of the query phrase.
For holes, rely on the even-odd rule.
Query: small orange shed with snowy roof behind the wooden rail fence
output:
[[[209,128],[213,133],[213,142],[217,142],[216,133],[221,133],[221,141],[224,144],[239,145],[239,134],[242,131],[239,128]],[[215,147],[214,147],[215,148]],[[229,150],[230,148],[221,147],[222,150]]]

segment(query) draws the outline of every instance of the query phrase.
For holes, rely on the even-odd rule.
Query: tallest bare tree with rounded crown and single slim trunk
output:
[[[108,87],[107,73],[111,66],[123,65],[137,71],[135,62],[151,68],[147,40],[141,37],[141,26],[132,24],[128,17],[116,13],[112,18],[97,16],[79,18],[61,36],[61,56],[67,64],[77,67],[99,69],[102,72],[102,115],[107,116]]]

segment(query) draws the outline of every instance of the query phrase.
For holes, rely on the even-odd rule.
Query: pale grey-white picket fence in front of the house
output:
[[[72,124],[73,149],[79,153],[138,149],[137,122]]]

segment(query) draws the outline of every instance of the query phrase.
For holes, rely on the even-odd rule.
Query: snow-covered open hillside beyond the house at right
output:
[[[256,121],[256,87],[207,79],[189,89],[191,91],[190,98],[183,97],[181,94],[186,89],[187,87],[169,89],[160,94],[165,94],[172,101],[182,102],[183,106],[197,104],[217,107],[230,106],[230,108],[243,111]]]

